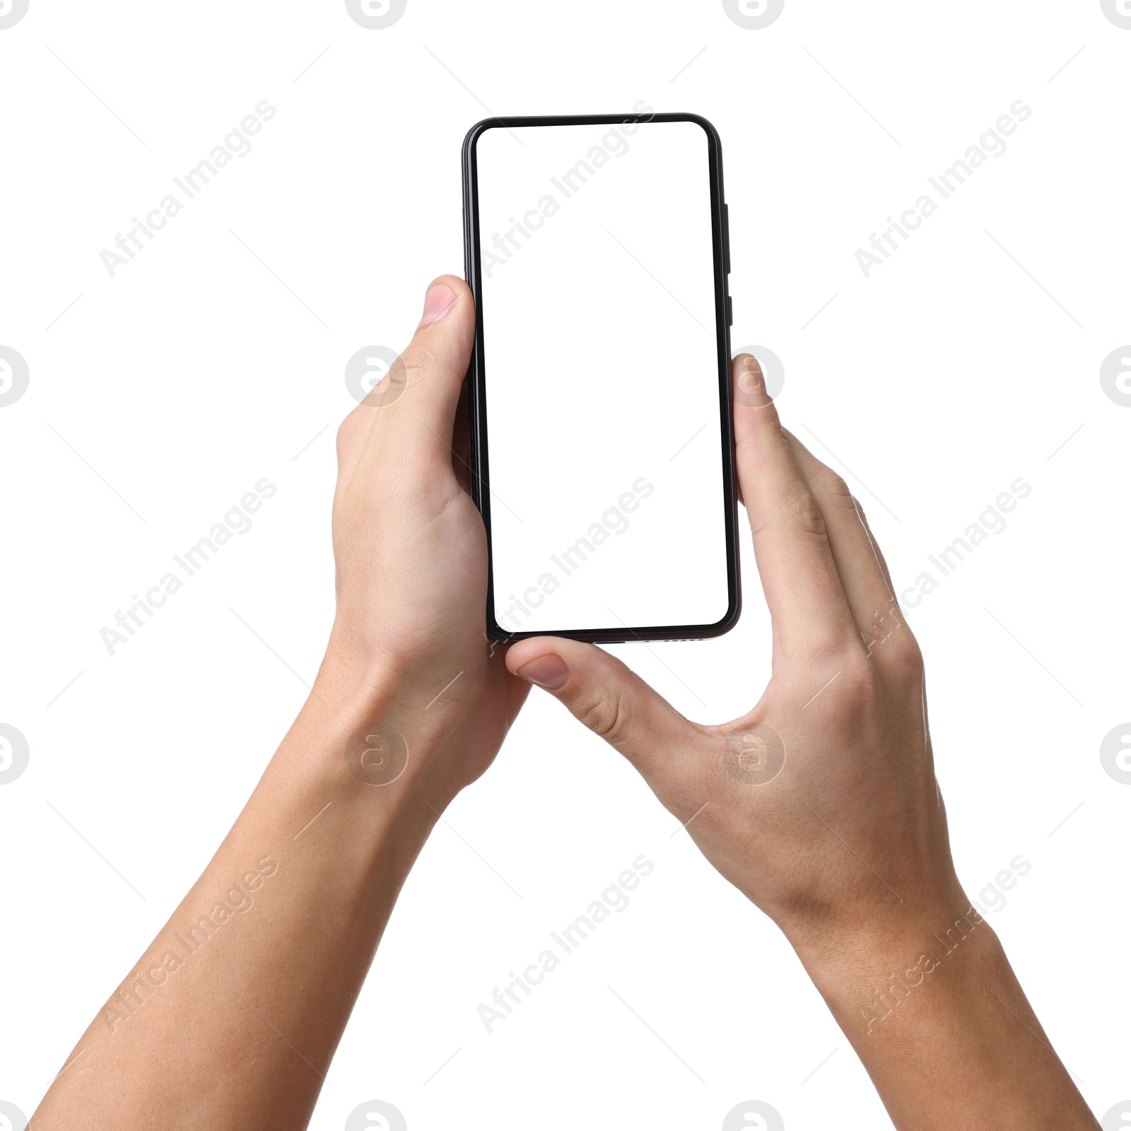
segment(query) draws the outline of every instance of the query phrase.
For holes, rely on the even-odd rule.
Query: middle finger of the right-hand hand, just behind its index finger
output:
[[[853,620],[865,640],[870,640],[875,634],[877,619],[890,615],[896,598],[856,500],[845,481],[792,433],[789,447],[824,517],[832,560]]]

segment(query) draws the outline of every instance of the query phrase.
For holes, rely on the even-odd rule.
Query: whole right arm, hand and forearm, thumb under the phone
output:
[[[955,872],[923,659],[844,481],[735,360],[735,448],[772,622],[741,718],[685,719],[593,645],[507,666],[639,770],[707,860],[785,933],[900,1131],[1096,1120]]]

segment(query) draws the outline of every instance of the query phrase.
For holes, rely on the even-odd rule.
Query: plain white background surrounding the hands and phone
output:
[[[0,1098],[35,1107],[307,694],[345,363],[461,269],[467,128],[642,97],[718,127],[734,343],[783,359],[783,415],[900,587],[1033,486],[910,616],[959,874],[976,898],[1031,862],[991,922],[1088,1100],[1128,1099],[1131,786],[1098,749],[1131,718],[1131,408],[1098,373],[1131,340],[1129,57],[1098,0],[787,0],[765,31],[714,0],[409,0],[387,31],[335,2],[32,0],[0,31],[0,344],[31,368],[0,408],[0,722],[31,745],[0,786]],[[109,278],[100,250],[264,98],[253,150]],[[1019,98],[1008,152],[865,279],[856,249]],[[262,476],[254,527],[107,655],[100,628]],[[618,648],[693,717],[767,677],[752,558],[734,632]],[[887,1125],[783,938],[556,703],[447,818],[314,1126],[371,1098],[414,1129],[718,1128],[750,1098],[791,1131]],[[487,1035],[476,1007],[640,853],[632,906]]]

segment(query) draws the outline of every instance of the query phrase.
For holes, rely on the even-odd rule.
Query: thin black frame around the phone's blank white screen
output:
[[[489,129],[553,126],[646,124],[649,122],[694,122],[707,136],[707,161],[710,176],[711,240],[715,261],[715,325],[717,328],[719,422],[722,432],[723,495],[726,523],[727,610],[714,624],[668,624],[559,631],[518,631],[503,629],[493,614],[494,570],[491,541],[491,489],[487,457],[487,406],[483,352],[483,293],[480,257],[478,167],[476,144]],[[731,392],[731,301],[727,276],[731,271],[726,204],[723,192],[723,145],[715,127],[699,114],[629,113],[563,114],[526,118],[487,118],[476,122],[464,139],[464,277],[475,297],[475,347],[468,372],[470,424],[472,499],[483,517],[487,535],[487,634],[510,642],[535,636],[558,636],[593,644],[622,644],[627,640],[701,640],[722,636],[734,628],[742,612],[742,587],[739,572],[737,491],[734,465],[734,420]]]

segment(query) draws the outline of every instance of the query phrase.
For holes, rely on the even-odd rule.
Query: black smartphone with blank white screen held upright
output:
[[[478,122],[464,240],[490,636],[726,632],[741,594],[715,128],[641,103]]]

